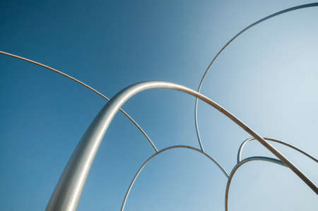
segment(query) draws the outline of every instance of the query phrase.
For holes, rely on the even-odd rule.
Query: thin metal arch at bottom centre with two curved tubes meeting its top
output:
[[[136,179],[138,178],[139,174],[141,173],[141,170],[146,167],[146,164],[151,161],[151,159],[153,159],[153,157],[156,157],[157,155],[159,155],[160,153],[162,152],[165,152],[167,150],[172,150],[172,149],[175,149],[175,148],[185,148],[185,149],[189,149],[189,150],[194,150],[196,152],[199,152],[201,153],[202,155],[204,155],[205,157],[208,157],[208,159],[211,159],[211,161],[216,164],[216,166],[223,172],[223,174],[226,176],[226,178],[228,178],[228,173],[225,171],[225,169],[223,169],[223,167],[220,166],[220,164],[218,164],[218,162],[216,162],[215,159],[213,159],[213,157],[211,157],[210,155],[206,154],[206,152],[202,152],[200,149],[196,148],[196,147],[191,147],[191,146],[187,146],[187,145],[174,145],[174,146],[170,146],[170,147],[166,147],[164,148],[163,150],[160,150],[159,152],[156,152],[155,154],[151,155],[151,157],[149,157],[146,162],[144,162],[141,167],[139,168],[139,170],[137,171],[136,175],[134,176],[134,179],[131,181],[130,185],[129,185],[129,188],[127,189],[127,192],[126,192],[126,195],[125,195],[125,198],[122,202],[122,209],[121,211],[124,211],[124,207],[126,205],[126,201],[127,201],[127,198],[129,196],[129,193],[131,191],[131,188],[134,186],[134,183],[136,181]]]

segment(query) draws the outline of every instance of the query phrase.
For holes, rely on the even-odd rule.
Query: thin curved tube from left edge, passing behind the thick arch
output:
[[[0,51],[0,54],[4,54],[6,56],[11,56],[13,58],[16,58],[16,59],[20,59],[20,60],[23,60],[23,61],[28,61],[32,64],[36,64],[37,66],[42,66],[43,68],[47,68],[48,70],[50,71],[53,71],[55,73],[59,73],[61,76],[64,76],[66,78],[69,78],[73,81],[75,81],[76,83],[79,83],[81,85],[83,85],[84,87],[88,88],[89,90],[92,90],[93,92],[95,92],[96,94],[100,95],[102,98],[104,98],[105,100],[107,101],[110,101],[110,99],[108,97],[106,97],[105,95],[103,95],[101,92],[99,92],[98,90],[95,90],[94,88],[92,88],[91,86],[87,85],[86,83],[83,83],[81,80],[78,80],[76,78],[73,78],[72,76],[69,76],[67,75],[66,73],[63,73],[62,71],[59,71],[57,69],[54,69],[50,66],[47,66],[45,64],[41,64],[40,62],[37,62],[37,61],[33,61],[31,59],[27,59],[27,58],[24,58],[22,56],[18,56],[18,55],[15,55],[15,54],[10,54],[8,52],[2,52]],[[129,114],[126,113],[126,111],[124,111],[123,109],[119,109],[120,111],[122,111],[122,114],[124,114],[132,123],[134,123],[134,125],[139,129],[139,131],[141,131],[141,133],[143,133],[143,135],[146,137],[146,139],[148,140],[148,142],[151,144],[151,146],[153,147],[153,150],[155,150],[155,152],[158,152],[158,149],[157,147],[155,147],[155,144],[151,141],[151,139],[149,138],[149,136],[147,135],[147,133],[145,131],[143,131],[143,129],[141,128],[141,126],[139,126],[138,123],[136,123],[136,121],[134,121],[134,119],[131,118],[131,116],[129,116]]]

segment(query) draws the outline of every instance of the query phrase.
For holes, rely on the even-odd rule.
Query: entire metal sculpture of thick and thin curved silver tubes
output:
[[[51,199],[49,200],[49,203],[47,205],[46,210],[76,210],[77,205],[78,205],[78,200],[80,199],[81,193],[83,191],[83,186],[86,182],[86,178],[87,178],[88,173],[90,171],[90,166],[93,163],[93,159],[98,151],[98,147],[102,141],[102,137],[105,135],[107,128],[110,125],[110,123],[112,122],[112,119],[113,119],[114,115],[117,113],[117,111],[122,111],[122,113],[131,122],[133,122],[137,128],[139,128],[139,131],[141,131],[141,133],[143,133],[143,135],[146,137],[148,142],[151,144],[151,146],[155,150],[155,153],[151,157],[149,157],[146,160],[146,162],[144,162],[141,165],[141,167],[137,171],[136,175],[132,179],[131,184],[130,184],[128,190],[126,191],[126,195],[125,195],[123,203],[122,203],[122,210],[124,210],[124,207],[126,205],[126,200],[127,200],[128,195],[131,191],[131,188],[134,186],[134,183],[135,183],[137,177],[141,173],[141,170],[144,167],[146,167],[146,164],[151,159],[153,159],[153,157],[156,157],[160,153],[165,152],[167,150],[172,150],[175,148],[183,148],[183,149],[194,150],[195,152],[199,152],[202,155],[204,155],[205,157],[208,157],[208,159],[210,159],[214,164],[217,165],[217,167],[221,171],[223,171],[223,174],[228,178],[228,183],[227,183],[226,190],[225,190],[225,210],[228,210],[228,192],[230,190],[230,182],[232,181],[232,177],[234,176],[235,171],[237,171],[237,169],[239,169],[242,166],[242,164],[245,164],[245,163],[250,162],[250,161],[255,161],[255,160],[272,162],[275,164],[280,164],[284,167],[288,167],[289,169],[294,171],[294,173],[296,175],[298,175],[299,178],[302,179],[302,181],[304,181],[307,184],[307,186],[309,186],[312,189],[312,191],[314,191],[316,194],[318,194],[317,186],[315,186],[315,184],[312,183],[312,181],[310,181],[310,179],[308,179],[307,176],[305,176],[305,174],[303,174],[297,167],[295,167],[294,164],[292,164],[286,157],[284,157],[281,154],[281,152],[278,152],[278,150],[276,150],[276,148],[273,147],[272,145],[270,145],[266,140],[273,141],[273,142],[280,143],[282,145],[286,145],[288,147],[291,147],[294,150],[297,150],[298,152],[302,153],[303,155],[314,160],[314,162],[317,162],[316,158],[312,157],[312,155],[309,155],[307,152],[300,150],[298,147],[295,147],[295,146],[290,145],[288,143],[284,143],[281,140],[276,140],[273,138],[262,138],[256,132],[252,131],[252,129],[249,128],[245,123],[243,123],[242,121],[237,119],[237,117],[235,117],[229,111],[227,111],[226,109],[221,107],[216,102],[213,102],[213,100],[211,100],[208,97],[201,95],[201,93],[199,93],[199,91],[201,90],[201,85],[203,84],[204,78],[206,77],[213,62],[216,61],[216,59],[218,58],[220,53],[223,52],[223,50],[226,47],[228,47],[228,45],[233,40],[235,40],[239,35],[241,35],[243,32],[245,32],[249,28],[252,28],[254,25],[257,25],[257,24],[259,24],[259,23],[261,23],[264,20],[267,20],[269,18],[273,18],[275,16],[281,15],[283,13],[287,13],[289,11],[295,11],[295,10],[298,10],[300,8],[308,8],[308,7],[312,7],[312,6],[318,6],[318,3],[303,4],[300,6],[287,8],[287,9],[285,9],[283,11],[279,11],[277,13],[273,13],[270,16],[266,16],[265,18],[261,18],[257,22],[252,23],[251,25],[247,26],[247,28],[244,28],[239,33],[237,33],[237,35],[232,37],[232,39],[227,44],[225,44],[225,46],[222,49],[220,49],[220,52],[218,52],[218,54],[216,54],[216,56],[213,58],[211,63],[208,65],[208,68],[206,69],[204,76],[201,78],[201,81],[199,83],[198,92],[191,90],[187,87],[184,87],[182,85],[177,85],[175,83],[167,83],[167,82],[163,82],[163,81],[150,81],[150,82],[143,82],[143,83],[137,83],[135,85],[131,85],[128,88],[125,88],[124,90],[119,92],[117,95],[115,95],[110,100],[109,98],[107,98],[105,95],[103,95],[98,90],[95,90],[94,88],[90,87],[86,83],[81,82],[81,80],[73,78],[72,76],[69,76],[66,73],[58,71],[57,69],[51,68],[51,67],[46,66],[44,64],[40,64],[37,61],[33,61],[33,60],[26,59],[26,58],[21,57],[21,56],[17,56],[15,54],[10,54],[7,52],[0,52],[0,54],[11,56],[11,57],[14,57],[16,59],[28,61],[32,64],[36,64],[38,66],[42,66],[44,68],[47,68],[50,71],[54,71],[56,73],[59,73],[62,76],[66,77],[66,78],[70,78],[71,80],[74,80],[76,83],[79,83],[79,84],[85,86],[86,88],[92,90],[93,92],[95,92],[98,95],[100,95],[101,97],[103,97],[105,100],[109,101],[105,105],[105,107],[102,108],[100,113],[95,117],[94,121],[90,124],[88,130],[83,135],[83,138],[78,143],[76,149],[73,152],[73,155],[69,159],[69,162],[63,171],[63,174],[61,175],[61,177],[59,179],[59,182],[57,183],[57,186],[54,190],[54,193],[52,194]],[[120,107],[122,107],[124,102],[129,100],[129,98],[134,96],[136,93],[141,92],[143,90],[152,89],[152,88],[167,88],[167,89],[179,90],[179,91],[186,92],[189,95],[193,95],[194,97],[196,97],[196,103],[195,103],[195,108],[194,108],[194,121],[195,121],[196,135],[197,135],[197,138],[199,141],[200,149],[195,148],[195,147],[191,147],[191,146],[187,146],[187,145],[175,145],[175,146],[166,147],[165,149],[158,151],[157,147],[155,147],[155,144],[148,137],[146,132],[143,131],[143,129],[139,126],[139,124],[136,123],[136,121],[134,121],[134,119],[132,119],[131,116],[129,116],[129,114],[127,114],[124,110],[122,110],[120,108]],[[237,123],[237,125],[240,126],[242,129],[244,129],[245,131],[247,131],[247,133],[252,135],[252,138],[245,140],[240,145],[240,148],[237,152],[237,164],[230,172],[230,175],[228,175],[228,173],[225,171],[225,169],[218,162],[216,162],[216,160],[213,159],[213,157],[211,157],[211,155],[208,155],[206,152],[204,152],[204,147],[203,147],[203,144],[201,142],[201,137],[200,137],[200,133],[199,133],[199,126],[198,126],[198,121],[197,121],[198,99],[203,100],[204,102],[210,104],[212,107],[218,109],[218,111],[225,114],[225,116],[227,116],[229,119],[231,119],[232,121]],[[248,143],[249,141],[254,140],[254,139],[258,140],[259,143],[264,145],[269,151],[271,151],[273,153],[273,155],[276,155],[276,157],[278,157],[278,159],[274,159],[271,157],[248,157],[246,159],[242,159],[243,147],[246,145],[246,143]]]

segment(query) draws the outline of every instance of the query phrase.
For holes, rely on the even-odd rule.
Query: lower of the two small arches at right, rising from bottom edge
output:
[[[242,164],[245,164],[250,161],[255,161],[255,160],[260,160],[260,161],[266,161],[266,162],[272,162],[275,164],[280,164],[283,167],[287,167],[283,162],[281,162],[279,159],[273,159],[271,157],[248,157],[243,159],[241,162],[235,165],[235,167],[232,169],[230,176],[228,178],[228,183],[226,184],[226,190],[225,190],[225,211],[228,211],[228,192],[230,190],[230,183],[232,181],[232,178],[235,174],[235,171],[239,169]]]

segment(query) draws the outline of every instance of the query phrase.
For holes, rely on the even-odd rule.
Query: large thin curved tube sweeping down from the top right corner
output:
[[[246,28],[244,28],[243,30],[241,30],[240,32],[237,33],[237,35],[235,35],[234,37],[232,37],[232,39],[230,41],[228,41],[221,49],[220,51],[218,52],[218,54],[216,54],[216,56],[214,56],[214,58],[212,59],[211,63],[208,65],[208,68],[206,68],[206,71],[204,72],[204,75],[202,76],[201,78],[201,81],[199,83],[199,88],[198,88],[198,92],[201,91],[201,86],[202,86],[202,83],[204,82],[204,78],[206,78],[206,75],[209,71],[209,69],[211,68],[212,64],[214,63],[214,61],[216,61],[216,59],[218,58],[218,56],[220,55],[220,53],[223,52],[223,50],[228,47],[228,45],[233,41],[235,40],[238,36],[240,36],[243,32],[245,32],[246,30],[248,30],[249,28],[252,28],[254,25],[257,25],[261,22],[263,22],[264,20],[268,20],[269,18],[273,18],[275,16],[279,16],[283,13],[287,13],[287,12],[290,12],[290,11],[295,11],[295,10],[298,10],[300,8],[308,8],[308,7],[312,7],[312,6],[318,6],[318,3],[311,3],[311,4],[302,4],[300,6],[294,6],[294,7],[290,7],[290,8],[286,8],[282,11],[278,11],[276,13],[273,13],[269,16],[266,16],[265,18],[261,18],[260,20],[257,20],[257,22],[254,22],[252,23],[251,25],[248,25]],[[195,101],[195,105],[194,105],[194,122],[195,122],[195,127],[196,127],[196,136],[199,140],[199,145],[201,147],[201,150],[204,151],[204,147],[203,147],[203,144],[202,144],[202,141],[201,141],[201,136],[200,136],[200,132],[199,132],[199,126],[198,126],[198,98],[196,98],[196,101]]]

